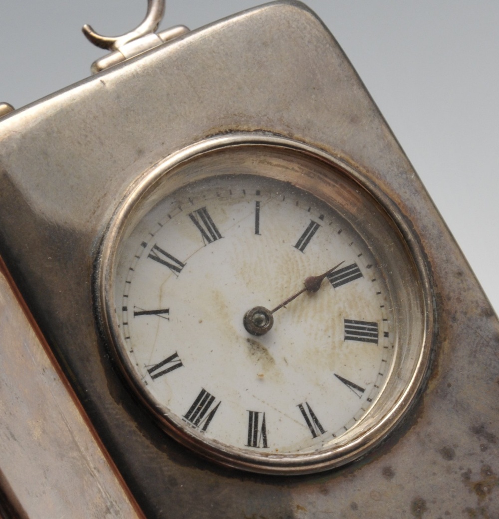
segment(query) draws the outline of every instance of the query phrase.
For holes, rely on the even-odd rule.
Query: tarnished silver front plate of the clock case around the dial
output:
[[[147,517],[499,514],[499,322],[352,65],[303,4],[180,36],[4,116],[0,132],[0,255]],[[180,446],[132,397],[98,325],[100,243],[130,186],[179,149],[233,132],[355,166],[398,208],[430,273],[422,394],[374,452],[328,473],[244,473]]]

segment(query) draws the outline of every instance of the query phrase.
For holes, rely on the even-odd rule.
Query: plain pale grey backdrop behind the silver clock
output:
[[[0,101],[20,107],[89,75],[80,32],[130,31],[145,0],[0,0]],[[167,3],[161,29],[258,5]],[[308,0],[338,39],[499,309],[499,2]],[[438,246],[438,244],[436,244]]]

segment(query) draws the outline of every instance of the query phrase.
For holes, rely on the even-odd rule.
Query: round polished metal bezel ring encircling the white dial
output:
[[[184,174],[186,165],[195,163],[200,157],[211,160],[211,157],[217,159],[222,154],[224,159],[226,157],[223,154],[230,155],[238,151],[248,154],[267,152],[269,155],[278,152],[282,157],[301,157],[311,164],[320,163],[322,169],[329,169],[331,174],[343,176],[350,188],[361,190],[362,196],[371,200],[380,219],[387,228],[392,229],[393,236],[396,236],[396,246],[402,251],[400,254],[405,255],[403,264],[399,262],[403,275],[398,282],[389,284],[390,297],[397,307],[394,311],[398,326],[396,340],[399,342],[390,375],[366,415],[344,434],[328,442],[327,450],[318,453],[249,454],[245,450],[217,441],[205,441],[199,435],[193,434],[190,428],[182,426],[180,420],[169,415],[167,407],[151,396],[124,353],[113,290],[120,244],[126,240],[137,222],[164,196],[197,180],[196,175]],[[325,194],[327,179],[323,180],[325,185],[317,190],[315,186],[320,182],[318,177],[314,174],[309,178],[300,177],[299,182],[302,185],[299,187],[317,197],[329,196],[334,199],[334,193]],[[387,261],[390,261],[388,256]],[[112,217],[102,242],[96,280],[101,328],[129,387],[173,438],[226,466],[260,473],[303,474],[343,465],[365,455],[386,438],[406,415],[425,383],[433,345],[434,307],[428,271],[417,240],[395,204],[368,175],[362,174],[359,168],[354,168],[344,160],[294,140],[253,133],[219,136],[189,146],[143,173],[131,186]]]

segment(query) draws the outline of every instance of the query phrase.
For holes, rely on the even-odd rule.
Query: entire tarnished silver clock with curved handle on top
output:
[[[0,510],[496,516],[499,323],[338,44],[163,11],[3,105]]]

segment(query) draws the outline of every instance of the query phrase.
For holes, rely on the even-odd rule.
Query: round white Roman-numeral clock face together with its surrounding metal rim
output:
[[[160,423],[259,472],[323,470],[380,441],[427,354],[421,280],[386,213],[290,149],[158,171],[117,219],[105,294],[120,366]]]

